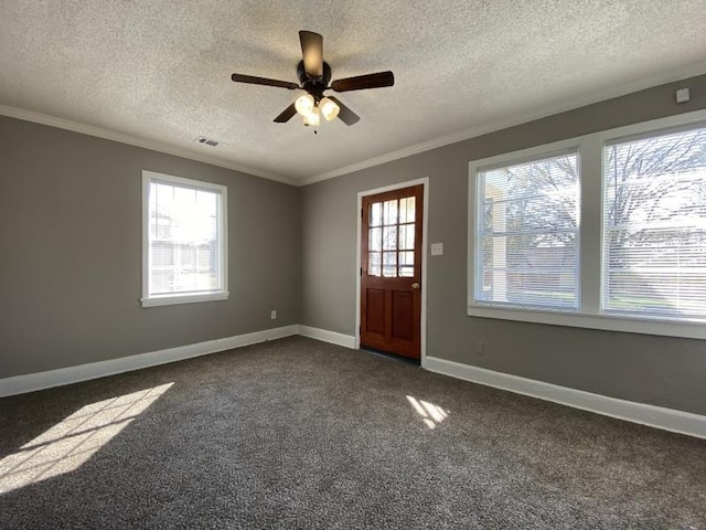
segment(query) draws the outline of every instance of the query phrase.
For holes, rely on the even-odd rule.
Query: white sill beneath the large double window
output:
[[[706,321],[637,318],[620,315],[595,315],[542,309],[523,309],[469,305],[470,317],[496,318],[520,322],[548,324],[574,328],[601,329],[627,333],[657,335],[687,339],[706,339]]]

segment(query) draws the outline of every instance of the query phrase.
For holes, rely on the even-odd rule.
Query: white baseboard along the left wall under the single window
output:
[[[299,326],[285,326],[281,328],[266,329],[254,333],[225,337],[223,339],[207,340],[195,344],[178,346],[164,350],[139,353],[137,356],[121,357],[108,361],[92,362],[77,367],[61,368],[46,372],[28,373],[13,378],[0,379],[0,398],[14,394],[23,394],[35,390],[50,389],[64,384],[78,383],[89,379],[105,378],[116,373],[140,370],[142,368],[167,364],[168,362],[182,361],[192,357],[206,356],[218,351],[242,348],[244,346],[265,342],[266,340],[281,339],[299,332]]]

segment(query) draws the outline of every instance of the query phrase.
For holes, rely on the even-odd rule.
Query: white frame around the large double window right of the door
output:
[[[706,339],[706,319],[670,319],[608,315],[602,312],[603,253],[603,148],[606,144],[631,137],[661,135],[675,130],[706,126],[706,110],[599,131],[553,144],[469,162],[468,203],[468,315],[524,322],[570,326],[578,328],[625,331],[633,333]],[[475,304],[477,198],[479,171],[491,167],[512,166],[552,156],[557,151],[578,148],[580,179],[579,224],[579,310],[509,308],[488,303]]]

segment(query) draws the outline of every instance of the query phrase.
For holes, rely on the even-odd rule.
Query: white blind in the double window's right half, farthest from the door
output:
[[[606,146],[603,311],[706,317],[706,128]]]

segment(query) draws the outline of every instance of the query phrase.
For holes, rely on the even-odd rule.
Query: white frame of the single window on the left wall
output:
[[[164,182],[167,184],[182,186],[196,190],[205,190],[217,192],[221,195],[221,271],[222,284],[221,290],[207,293],[189,293],[189,294],[165,294],[150,295],[149,293],[149,259],[150,259],[150,241],[149,241],[149,197],[150,183]],[[200,301],[226,300],[228,293],[228,189],[222,184],[213,182],[204,182],[200,180],[184,179],[171,174],[157,173],[154,171],[142,171],[142,297],[140,303],[142,307],[171,306],[175,304],[192,304]]]

